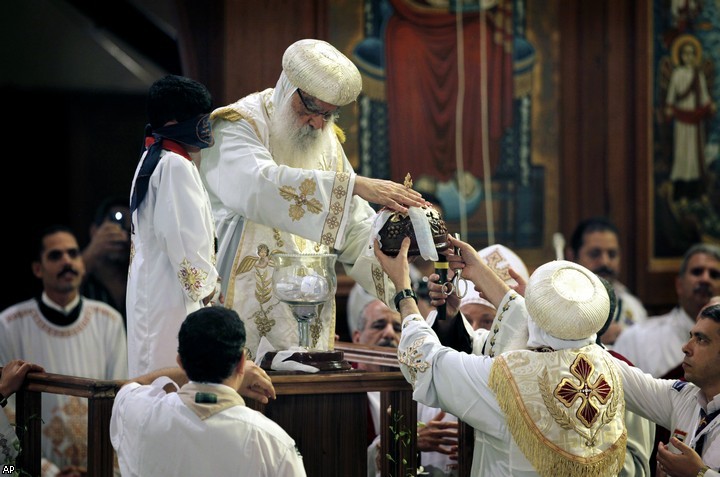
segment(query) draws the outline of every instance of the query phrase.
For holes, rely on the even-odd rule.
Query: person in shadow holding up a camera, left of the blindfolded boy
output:
[[[125,296],[130,265],[130,207],[125,196],[109,196],[95,210],[90,243],[82,251],[83,296],[107,303],[125,320]]]

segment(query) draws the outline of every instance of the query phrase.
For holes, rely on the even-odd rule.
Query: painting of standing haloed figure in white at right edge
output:
[[[654,0],[653,254],[720,243],[720,0]]]

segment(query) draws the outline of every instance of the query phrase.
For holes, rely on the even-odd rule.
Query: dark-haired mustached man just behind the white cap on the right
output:
[[[579,263],[613,285],[618,306],[615,319],[602,335],[602,343],[612,346],[622,331],[647,319],[642,302],[618,279],[622,264],[619,232],[605,217],[580,222],[570,237],[568,260]]]

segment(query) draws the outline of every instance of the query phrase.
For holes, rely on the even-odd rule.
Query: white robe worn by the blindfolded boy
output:
[[[218,281],[212,210],[192,161],[161,152],[145,200],[132,214],[131,239],[128,369],[140,376],[175,366],[180,325]]]

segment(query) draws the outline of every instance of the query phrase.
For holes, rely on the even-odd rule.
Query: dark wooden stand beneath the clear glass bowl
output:
[[[412,388],[399,371],[369,373],[357,370],[317,374],[271,372],[277,400],[263,405],[246,399],[248,406],[277,422],[297,444],[307,475],[366,477],[367,392],[380,391],[382,475],[414,475],[417,468],[415,436],[417,405]],[[396,440],[390,426],[407,432],[408,441]]]

